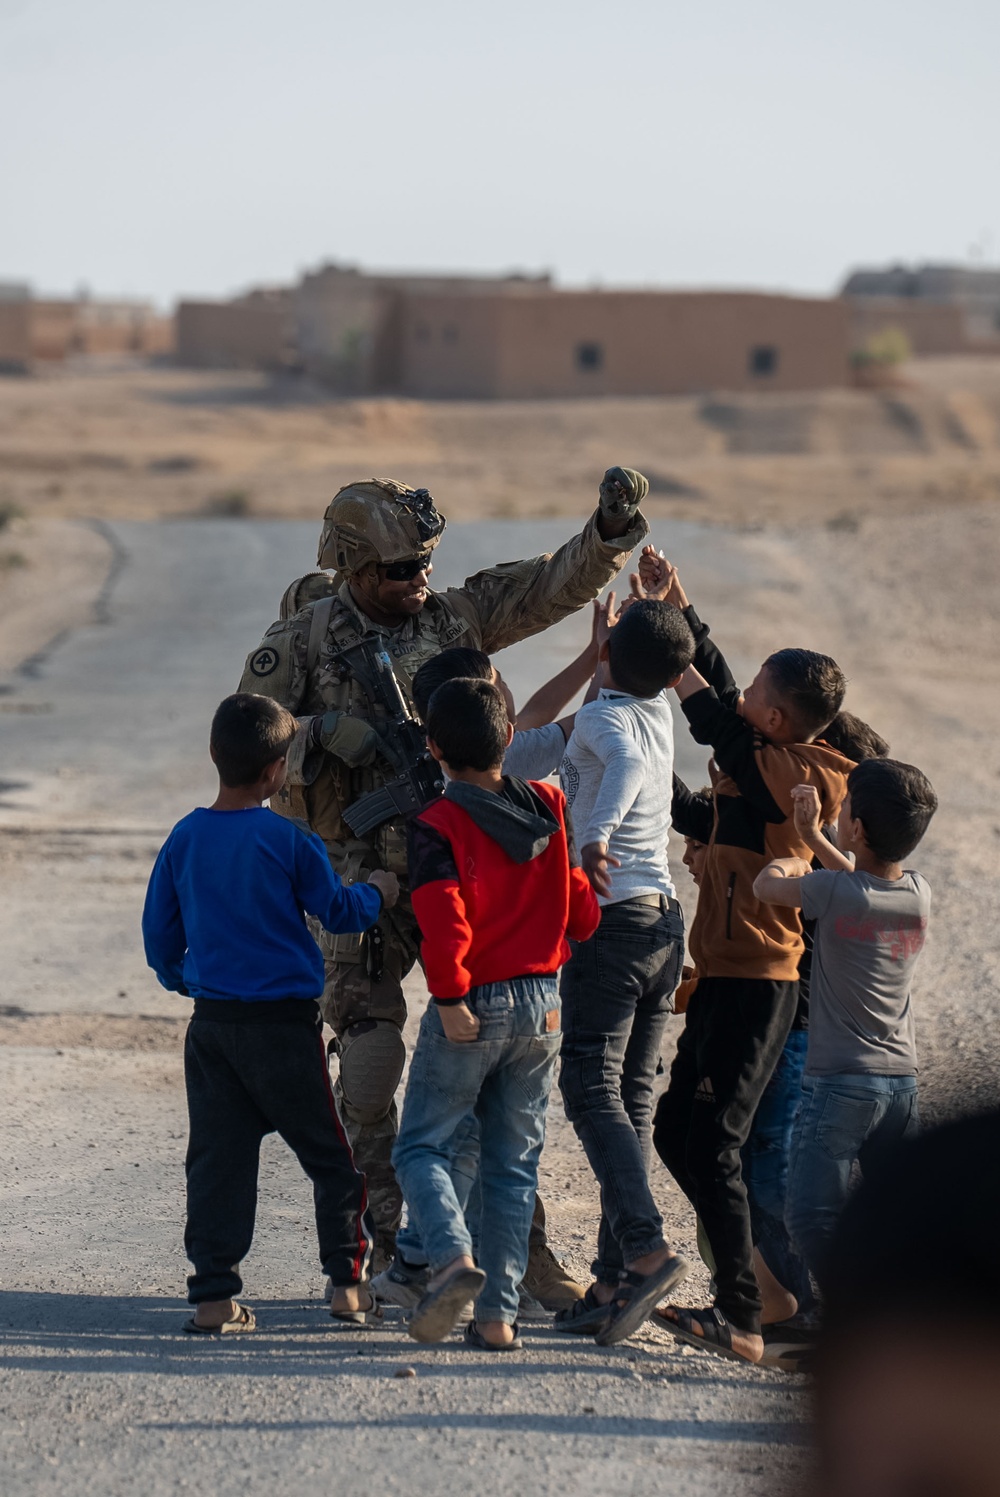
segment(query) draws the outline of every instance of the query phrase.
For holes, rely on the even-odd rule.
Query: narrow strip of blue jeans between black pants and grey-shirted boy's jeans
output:
[[[743,1181],[753,1240],[777,1281],[798,1299],[799,1314],[816,1310],[816,1296],[808,1269],[792,1247],[784,1214],[807,1048],[808,1030],[792,1030],[757,1103],[750,1138],[743,1145]]]

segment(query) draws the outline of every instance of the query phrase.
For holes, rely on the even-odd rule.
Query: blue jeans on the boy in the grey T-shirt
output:
[[[918,1130],[916,1076],[805,1076],[802,1087],[787,1226],[822,1289],[855,1160],[877,1175]]]

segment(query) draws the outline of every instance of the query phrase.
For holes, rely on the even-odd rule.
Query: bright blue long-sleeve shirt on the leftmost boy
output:
[[[165,988],[193,998],[317,998],[323,958],[305,915],[364,931],[382,912],[371,883],[346,888],[319,840],[263,807],[196,810],[150,876],[145,957]]]

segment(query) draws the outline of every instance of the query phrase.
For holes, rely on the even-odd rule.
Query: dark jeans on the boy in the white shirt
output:
[[[663,1247],[650,1192],[656,1067],[681,976],[684,918],[675,900],[606,904],[563,967],[560,1091],[600,1186],[594,1278]]]

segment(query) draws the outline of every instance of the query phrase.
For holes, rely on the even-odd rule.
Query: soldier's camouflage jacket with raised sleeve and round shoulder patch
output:
[[[431,593],[421,612],[395,629],[367,618],[355,605],[349,584],[338,576],[313,572],[299,578],[284,594],[284,609],[298,611],[268,629],[247,657],[240,683],[241,692],[274,698],[299,722],[299,735],[289,754],[287,784],[274,808],[304,817],[326,843],[343,877],[356,879],[362,868],[367,873],[373,867],[404,874],[406,838],[400,825],[389,822],[362,843],[341,817],[343,807],[383,784],[395,771],[383,759],[368,768],[352,768],[311,746],[313,719],[329,711],[350,713],[379,732],[386,731],[380,711],[371,707],[362,686],[340,671],[334,654],[361,635],[379,636],[412,705],[410,683],[431,656],[460,644],[493,654],[557,624],[614,581],[647,534],[648,525],[638,515],[624,536],[602,540],[594,513],[582,531],[552,555],[504,561],[476,572],[463,587]],[[310,648],[313,609],[331,593],[329,624]]]

